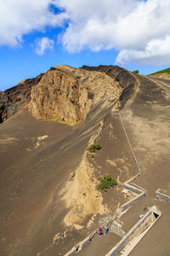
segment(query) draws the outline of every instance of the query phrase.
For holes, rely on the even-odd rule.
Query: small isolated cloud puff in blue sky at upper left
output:
[[[54,40],[49,38],[37,38],[36,39],[36,49],[37,55],[43,55],[46,49],[54,49]]]

